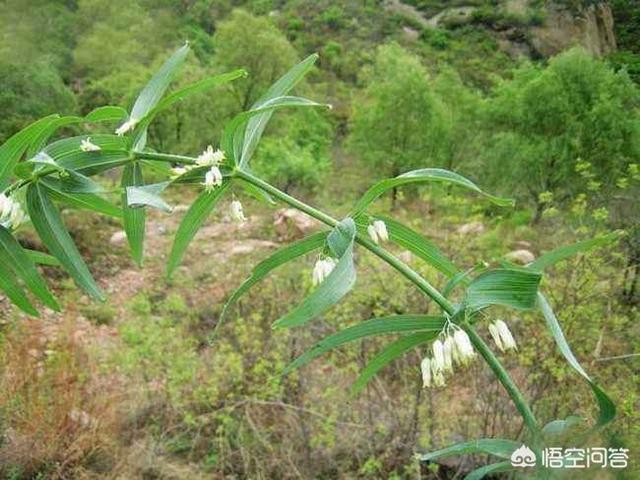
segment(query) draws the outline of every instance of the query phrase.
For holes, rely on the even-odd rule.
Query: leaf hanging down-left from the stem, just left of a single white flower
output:
[[[175,269],[178,268],[191,240],[193,240],[193,237],[195,237],[228,187],[229,182],[223,182],[221,186],[210,192],[203,190],[196,201],[189,207],[189,210],[187,210],[187,213],[178,226],[173,247],[169,254],[169,260],[167,262],[168,277],[171,277]]]

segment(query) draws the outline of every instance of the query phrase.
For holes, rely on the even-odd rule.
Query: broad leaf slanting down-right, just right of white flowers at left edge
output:
[[[103,300],[104,295],[96,285],[89,269],[82,260],[71,236],[60,218],[47,190],[39,183],[27,188],[27,209],[31,222],[42,243],[56,257],[76,283],[94,298]]]

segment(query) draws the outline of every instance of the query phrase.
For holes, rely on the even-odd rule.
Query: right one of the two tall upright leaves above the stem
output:
[[[254,105],[252,105],[251,110],[257,110],[274,100],[276,97],[282,97],[289,93],[291,89],[300,80],[302,80],[307,72],[309,72],[317,59],[318,55],[312,54],[295,65],[291,70],[280,77],[269,88],[267,93],[260,97],[260,99],[258,99],[258,101]],[[247,123],[247,127],[244,130],[241,152],[239,152],[239,156],[234,156],[234,160],[236,161],[236,163],[239,163],[241,167],[246,167],[249,164],[249,160],[251,160],[251,156],[258,146],[260,137],[262,137],[262,133],[264,132],[267,123],[269,123],[269,119],[271,118],[272,114],[272,110],[264,111],[263,113],[260,113],[259,115],[251,118],[251,120],[249,120],[249,122]],[[231,154],[231,151],[229,151],[228,153]]]

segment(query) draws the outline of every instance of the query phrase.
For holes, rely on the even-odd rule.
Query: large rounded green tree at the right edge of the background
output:
[[[487,103],[484,150],[494,183],[535,206],[550,193],[566,203],[584,190],[611,192],[640,155],[638,90],[624,72],[580,49],[548,67],[524,65]]]

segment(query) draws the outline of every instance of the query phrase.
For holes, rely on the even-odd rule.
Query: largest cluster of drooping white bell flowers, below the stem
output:
[[[453,374],[454,366],[468,365],[476,355],[469,336],[457,325],[449,322],[440,335],[444,340],[433,342],[432,356],[425,357],[420,363],[422,386],[425,388],[431,385],[443,387],[445,374]]]

